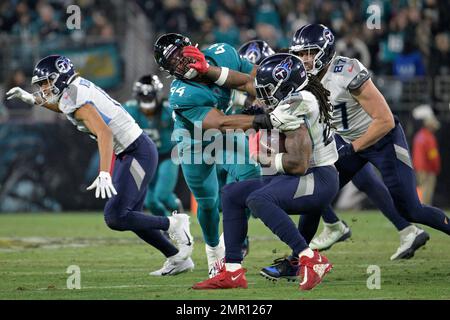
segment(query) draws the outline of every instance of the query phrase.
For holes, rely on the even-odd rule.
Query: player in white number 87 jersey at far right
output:
[[[329,28],[312,24],[297,30],[290,49],[303,60],[308,72],[317,74],[331,92],[340,185],[344,186],[359,170],[367,168],[367,162],[380,171],[388,193],[383,191],[372,200],[380,209],[389,204],[390,209],[384,213],[395,222],[400,234],[400,247],[391,260],[411,258],[429,239],[424,230],[411,223],[424,224],[450,234],[448,217],[442,210],[420,203],[400,122],[373,84],[367,68],[357,59],[335,56],[334,42]],[[371,188],[379,192],[385,189],[384,185],[377,183]],[[327,239],[327,234],[333,234],[335,230],[341,230],[341,234],[345,232],[343,223],[331,207],[323,218],[327,224],[323,234],[313,240],[316,247],[329,247],[330,240],[337,240],[336,235]]]

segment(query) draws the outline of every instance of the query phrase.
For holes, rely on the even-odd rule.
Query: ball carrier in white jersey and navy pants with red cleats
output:
[[[329,92],[315,76],[308,77],[298,57],[287,53],[261,62],[255,89],[268,108],[287,106],[301,124],[284,132],[286,151],[269,156],[277,175],[222,189],[225,267],[214,278],[195,284],[194,289],[247,288],[240,252],[247,234],[246,207],[299,257],[301,290],[314,288],[332,267],[325,256],[308,246],[339,186],[333,165],[338,153],[330,130]],[[299,228],[288,216],[298,212],[304,215]]]

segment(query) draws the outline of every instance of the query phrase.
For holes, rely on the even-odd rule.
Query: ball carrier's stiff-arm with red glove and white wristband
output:
[[[226,67],[210,66],[206,61],[205,55],[196,47],[187,46],[183,48],[183,56],[193,58],[195,63],[189,67],[195,69],[202,77],[214,82],[219,86],[230,89],[245,91],[251,96],[256,96],[254,79],[256,74],[256,66],[251,74],[246,74]]]

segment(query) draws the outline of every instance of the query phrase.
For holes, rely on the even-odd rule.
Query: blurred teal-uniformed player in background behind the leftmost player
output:
[[[133,86],[134,99],[127,101],[124,107],[158,149],[158,169],[148,187],[144,205],[154,215],[169,216],[171,212],[183,212],[183,209],[174,193],[179,165],[171,161],[175,146],[171,140],[172,110],[168,101],[161,97],[162,89],[157,75],[142,76]]]

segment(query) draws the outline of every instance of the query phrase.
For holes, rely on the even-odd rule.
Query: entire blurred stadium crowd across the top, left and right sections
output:
[[[320,21],[337,35],[338,53],[360,59],[376,75],[409,79],[448,75],[450,71],[449,1],[137,0],[137,3],[147,14],[155,34],[185,33],[200,44],[227,42],[237,48],[258,38],[280,49],[289,45],[300,26]],[[78,5],[82,12],[79,30],[66,27],[66,9],[72,4]],[[378,29],[368,29],[366,25],[371,5],[380,8]],[[6,60],[0,55],[0,61],[8,62],[7,71],[0,71],[0,82],[5,89],[25,85],[36,62],[36,48],[49,52],[67,43],[82,46],[118,41],[117,7],[120,8],[120,1],[1,1],[0,42],[7,39],[12,44],[13,58]],[[430,92],[434,95],[434,90]],[[6,108],[1,109],[3,119],[11,109],[8,104]],[[19,109],[23,108],[29,107]]]

